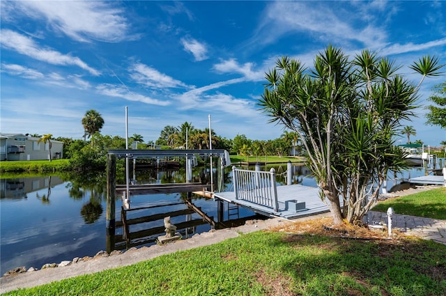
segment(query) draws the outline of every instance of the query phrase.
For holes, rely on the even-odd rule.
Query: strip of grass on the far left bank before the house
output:
[[[0,162],[0,173],[54,172],[70,169],[70,159]]]

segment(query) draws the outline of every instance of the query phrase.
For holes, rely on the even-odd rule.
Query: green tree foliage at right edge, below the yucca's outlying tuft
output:
[[[433,102],[433,105],[426,107],[429,110],[426,123],[446,129],[446,82],[436,85],[428,100]]]

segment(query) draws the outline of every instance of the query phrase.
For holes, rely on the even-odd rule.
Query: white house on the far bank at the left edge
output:
[[[44,160],[49,159],[49,143],[38,143],[40,138],[26,134],[0,133],[0,160]],[[63,157],[63,142],[50,140],[51,158]]]

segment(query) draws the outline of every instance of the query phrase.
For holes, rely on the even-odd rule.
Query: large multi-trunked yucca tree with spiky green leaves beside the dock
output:
[[[421,81],[439,75],[442,67],[429,56],[410,66]],[[398,70],[369,50],[349,60],[330,45],[312,69],[285,56],[266,74],[259,105],[270,122],[298,133],[334,224],[362,221],[378,199],[387,170],[406,165],[394,136],[401,121],[413,116],[420,84]]]

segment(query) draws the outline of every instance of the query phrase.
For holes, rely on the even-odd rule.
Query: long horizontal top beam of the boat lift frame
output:
[[[128,157],[129,159],[137,158],[150,158],[150,157],[173,157],[190,155],[207,155],[224,157],[224,149],[192,149],[192,150],[180,150],[180,149],[153,149],[153,150],[141,150],[141,149],[115,149],[109,150],[108,154],[116,155],[118,158]]]

